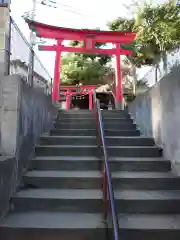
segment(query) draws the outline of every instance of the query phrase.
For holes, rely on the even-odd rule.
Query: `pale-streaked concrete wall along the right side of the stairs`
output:
[[[180,66],[129,105],[141,132],[153,137],[180,174]]]

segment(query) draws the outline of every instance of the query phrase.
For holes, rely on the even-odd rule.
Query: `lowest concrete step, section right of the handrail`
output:
[[[179,240],[179,214],[119,214],[122,240]]]

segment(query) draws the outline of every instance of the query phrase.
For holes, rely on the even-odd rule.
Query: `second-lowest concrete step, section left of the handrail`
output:
[[[103,213],[102,190],[27,189],[13,198],[14,211]]]

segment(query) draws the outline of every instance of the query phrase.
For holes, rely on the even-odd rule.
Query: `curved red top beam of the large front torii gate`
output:
[[[30,19],[26,19],[26,23],[29,25],[29,28],[34,30],[37,33],[37,36],[44,37],[47,34],[45,32],[51,33],[54,36],[61,33],[62,36],[72,36],[79,34],[80,36],[101,36],[101,37],[112,37],[112,38],[131,38],[132,40],[135,39],[136,33],[135,32],[118,32],[118,31],[104,31],[104,30],[97,30],[97,29],[76,29],[76,28],[64,28],[58,26],[47,25],[44,23],[36,22]],[[50,35],[47,35],[50,36]],[[67,39],[70,40],[70,39]]]

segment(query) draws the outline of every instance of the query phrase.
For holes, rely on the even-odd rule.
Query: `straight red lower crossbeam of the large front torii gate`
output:
[[[62,52],[76,52],[76,53],[91,53],[91,54],[107,54],[107,55],[115,55],[117,53],[116,49],[99,49],[99,48],[94,48],[87,50],[86,48],[82,47],[66,47],[66,46],[61,46],[59,49],[61,49]],[[39,50],[41,51],[57,51],[57,46],[39,46]],[[124,49],[119,49],[119,54],[122,55],[131,55],[132,51],[131,50],[124,50]]]

